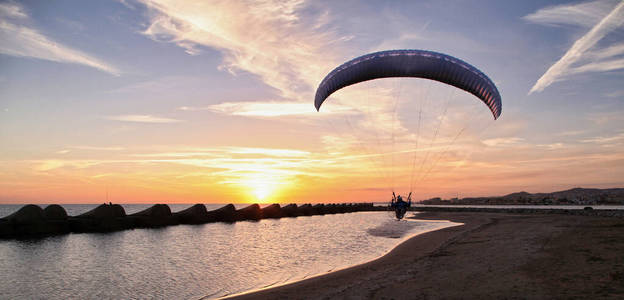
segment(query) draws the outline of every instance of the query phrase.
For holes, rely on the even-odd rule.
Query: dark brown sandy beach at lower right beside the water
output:
[[[624,297],[624,219],[428,212],[464,223],[366,264],[235,299]]]

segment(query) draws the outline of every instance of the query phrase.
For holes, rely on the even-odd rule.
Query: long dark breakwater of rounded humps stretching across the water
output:
[[[339,214],[358,211],[382,211],[387,207],[372,203],[354,204],[258,204],[236,209],[233,204],[208,211],[204,204],[195,204],[179,212],[172,212],[167,204],[155,204],[143,211],[127,215],[119,204],[101,204],[78,216],[68,216],[60,205],[42,209],[28,204],[15,213],[0,218],[0,239],[41,237],[64,233],[111,232],[134,228],[155,228],[179,224],[212,222],[259,221],[261,219],[295,218],[313,215]]]

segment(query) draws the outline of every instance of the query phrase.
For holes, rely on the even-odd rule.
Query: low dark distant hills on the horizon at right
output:
[[[584,189],[573,188],[552,193],[517,192],[497,197],[432,198],[421,201],[430,205],[624,205],[624,188]]]

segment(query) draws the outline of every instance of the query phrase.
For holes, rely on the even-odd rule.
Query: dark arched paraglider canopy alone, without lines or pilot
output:
[[[483,72],[449,55],[426,50],[388,50],[352,59],[331,71],[316,90],[317,110],[335,91],[359,82],[387,77],[417,77],[443,82],[477,96],[494,119],[502,112],[498,89]]]

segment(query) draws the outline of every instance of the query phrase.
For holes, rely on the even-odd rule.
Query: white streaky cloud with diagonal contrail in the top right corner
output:
[[[572,47],[533,85],[529,94],[540,92],[556,81],[565,79],[570,74],[585,72],[605,72],[624,68],[624,59],[618,58],[624,53],[624,44],[613,45],[602,50],[589,50],[607,34],[620,28],[624,23],[624,2],[618,2],[611,9],[606,2],[594,1],[582,4],[559,5],[544,8],[525,17],[530,22],[539,24],[576,24],[592,25],[589,32],[576,40]],[[602,18],[592,23],[597,16]],[[576,64],[576,65],[575,65]]]

